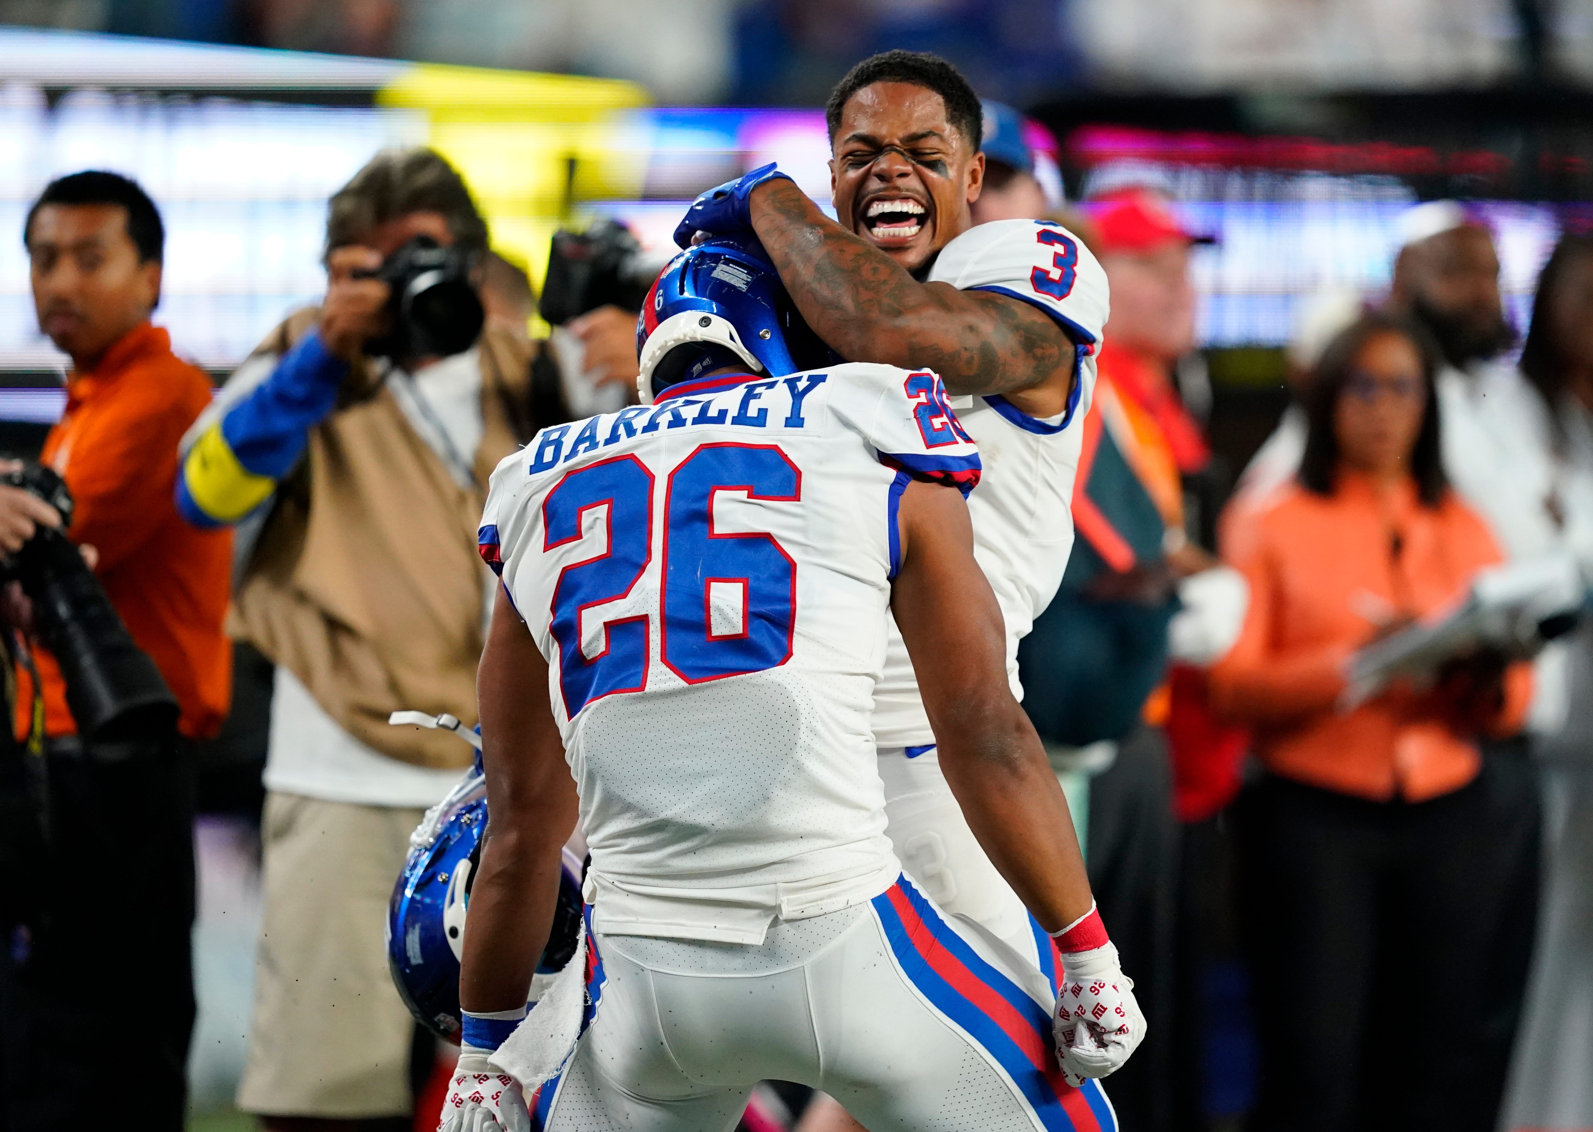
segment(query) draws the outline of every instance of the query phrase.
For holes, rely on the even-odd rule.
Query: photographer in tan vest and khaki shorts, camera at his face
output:
[[[276,666],[263,922],[239,1107],[268,1129],[411,1111],[414,1024],[382,923],[411,829],[468,748],[393,710],[475,723],[492,468],[538,424],[537,344],[478,288],[487,228],[424,148],[330,202],[327,295],[290,315],[185,439],[177,500],[239,524],[231,629]]]

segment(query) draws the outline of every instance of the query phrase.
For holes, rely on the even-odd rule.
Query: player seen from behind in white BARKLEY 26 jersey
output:
[[[938,377],[803,369],[827,352],[755,245],[682,255],[640,333],[647,404],[492,476],[492,823],[443,1127],[728,1132],[774,1078],[876,1132],[1115,1129],[1093,1078],[1142,1019],[1008,688]],[[868,724],[887,608],[948,782],[1077,976],[1059,995],[900,874]],[[526,1016],[577,814],[585,955]]]

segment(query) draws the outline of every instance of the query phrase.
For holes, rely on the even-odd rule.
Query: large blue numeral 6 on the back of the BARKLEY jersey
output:
[[[796,562],[766,533],[714,529],[720,492],[801,500],[801,473],[774,446],[704,444],[669,473],[664,516],[664,664],[688,685],[790,659]],[[714,599],[741,607],[714,632]]]

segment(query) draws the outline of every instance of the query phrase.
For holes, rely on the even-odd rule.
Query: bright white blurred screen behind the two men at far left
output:
[[[0,366],[49,369],[38,334],[22,224],[53,178],[127,174],[166,223],[156,322],[209,368],[236,365],[295,306],[325,287],[327,197],[384,145],[424,140],[409,111],[76,91],[54,108],[0,94]]]

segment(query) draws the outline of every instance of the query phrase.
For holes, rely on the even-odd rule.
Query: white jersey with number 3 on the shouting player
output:
[[[1075,376],[1067,411],[1037,420],[1004,396],[951,400],[980,449],[983,474],[969,497],[973,556],[1007,623],[1007,675],[1018,683],[1018,642],[1050,605],[1074,546],[1074,478],[1096,377],[1096,347],[1107,317],[1106,272],[1077,237],[1048,220],[978,224],[941,248],[929,282],[962,291],[997,291],[1039,307],[1074,338]],[[918,694],[913,662],[890,623],[884,677],[875,689],[881,750],[935,742]]]

